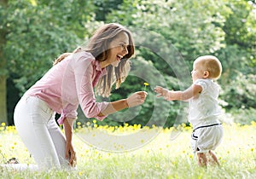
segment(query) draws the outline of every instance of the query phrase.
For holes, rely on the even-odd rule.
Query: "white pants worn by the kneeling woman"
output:
[[[55,112],[35,96],[23,96],[15,107],[15,127],[39,169],[68,166],[66,139]]]

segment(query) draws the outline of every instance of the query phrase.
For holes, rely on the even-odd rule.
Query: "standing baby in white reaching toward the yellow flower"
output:
[[[189,101],[189,122],[193,126],[191,144],[197,153],[198,164],[218,163],[218,158],[212,152],[222,141],[224,131],[218,120],[221,109],[218,106],[218,84],[214,83],[220,77],[222,66],[218,58],[205,55],[194,61],[191,76],[193,84],[184,91],[167,90],[156,86],[154,92],[167,101]]]

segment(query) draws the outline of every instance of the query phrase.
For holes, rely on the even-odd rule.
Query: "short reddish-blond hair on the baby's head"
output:
[[[205,77],[218,79],[222,72],[222,66],[216,56],[204,55],[194,61],[194,66],[199,66]]]

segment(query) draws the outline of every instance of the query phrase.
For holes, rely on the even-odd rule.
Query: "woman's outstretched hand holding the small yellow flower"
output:
[[[147,95],[148,93],[146,91],[137,91],[136,93],[131,94],[126,99],[128,107],[137,107],[138,105],[143,104]]]

